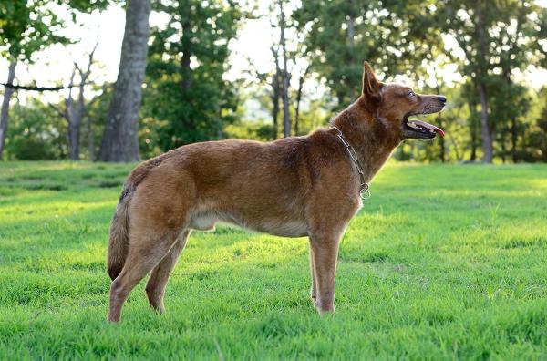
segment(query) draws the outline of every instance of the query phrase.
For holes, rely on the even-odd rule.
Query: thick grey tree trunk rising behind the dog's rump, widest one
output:
[[[150,0],[129,0],[114,86],[98,160],[139,160],[139,108],[146,69]]]

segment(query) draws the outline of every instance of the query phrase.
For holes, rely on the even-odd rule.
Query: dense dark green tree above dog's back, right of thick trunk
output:
[[[168,15],[152,29],[143,116],[157,134],[160,150],[195,141],[223,138],[235,120],[237,85],[224,78],[229,43],[241,13],[221,0],[161,1],[155,9]],[[153,121],[161,127],[153,126]]]

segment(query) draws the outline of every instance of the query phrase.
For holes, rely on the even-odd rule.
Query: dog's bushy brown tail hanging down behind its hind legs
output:
[[[108,274],[114,281],[118,277],[129,251],[129,201],[133,195],[135,186],[129,180],[123,187],[119,196],[118,207],[114,212],[110,225],[110,240],[108,242]]]

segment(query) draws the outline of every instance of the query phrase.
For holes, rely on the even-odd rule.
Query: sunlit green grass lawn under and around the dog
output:
[[[307,240],[194,232],[167,313],[105,321],[108,223],[131,166],[0,163],[0,359],[547,358],[547,167],[391,164],[340,249],[336,315]]]

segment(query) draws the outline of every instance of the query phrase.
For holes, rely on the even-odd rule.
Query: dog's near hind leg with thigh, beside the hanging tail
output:
[[[119,321],[131,290],[170,253],[188,228],[196,188],[189,174],[173,167],[164,162],[150,170],[131,198],[128,255],[110,286],[110,322]]]

